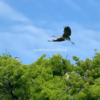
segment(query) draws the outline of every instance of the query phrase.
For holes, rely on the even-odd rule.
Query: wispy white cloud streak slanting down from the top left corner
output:
[[[27,17],[15,11],[13,8],[11,8],[3,1],[0,1],[0,17],[14,21],[30,22],[30,20]]]

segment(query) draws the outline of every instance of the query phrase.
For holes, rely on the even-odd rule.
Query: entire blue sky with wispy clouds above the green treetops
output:
[[[21,57],[23,64],[60,53],[75,64],[100,52],[100,0],[0,0],[0,55]],[[70,26],[71,41],[48,42]],[[41,50],[40,50],[41,49]]]

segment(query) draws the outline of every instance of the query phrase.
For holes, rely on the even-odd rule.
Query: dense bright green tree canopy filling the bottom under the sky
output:
[[[76,66],[60,54],[23,65],[0,56],[0,100],[100,100],[100,53]],[[69,79],[66,79],[66,72]]]

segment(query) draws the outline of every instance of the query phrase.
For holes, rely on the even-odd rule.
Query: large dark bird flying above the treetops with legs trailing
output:
[[[74,44],[74,42],[71,41],[70,37],[71,36],[71,28],[69,26],[64,27],[64,33],[61,37],[57,37],[55,35],[51,36],[51,37],[56,37],[56,40],[48,40],[48,42],[61,42],[61,41],[65,41],[65,40],[69,40],[72,44]]]

